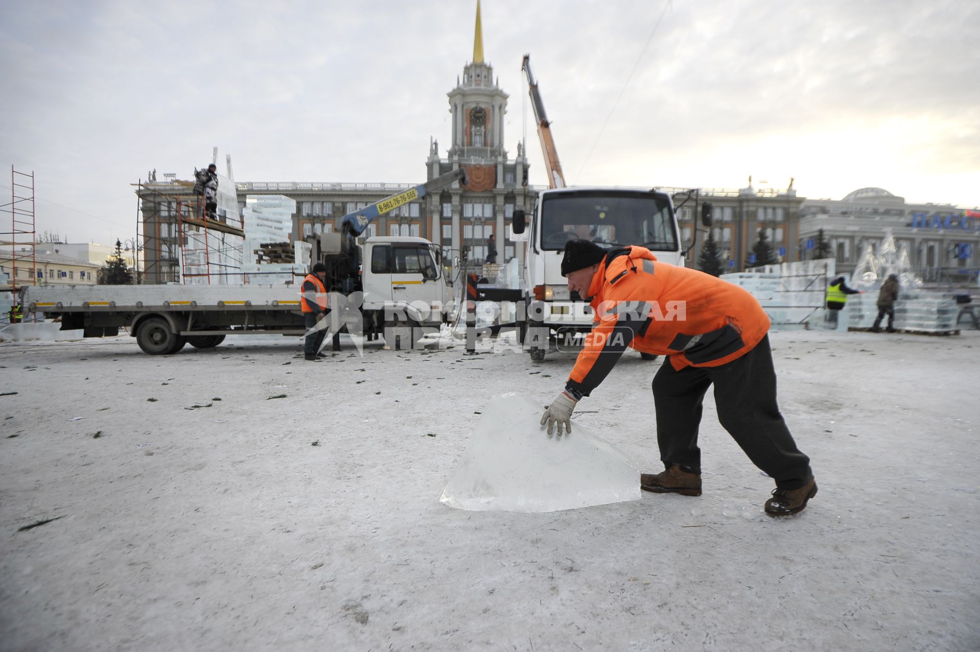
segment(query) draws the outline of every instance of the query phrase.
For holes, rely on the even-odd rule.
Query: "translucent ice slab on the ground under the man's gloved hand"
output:
[[[549,439],[544,407],[508,393],[490,401],[440,502],[471,512],[557,512],[640,498],[626,455],[572,420]]]

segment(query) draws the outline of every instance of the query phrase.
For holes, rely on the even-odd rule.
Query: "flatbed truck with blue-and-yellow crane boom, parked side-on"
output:
[[[361,236],[379,216],[455,182],[466,185],[464,170],[345,215],[339,232],[308,238],[310,264],[319,261],[327,267],[328,293],[359,299],[357,305],[344,306],[345,319],[356,315],[348,310],[356,308],[361,320],[357,326],[368,339],[383,334],[389,343],[405,347],[408,340],[414,345],[424,332],[449,321],[453,290],[439,247],[420,237]],[[306,328],[299,291],[285,284],[27,285],[21,300],[28,312],[60,319],[62,330],[81,329],[85,337],[101,337],[125,327],[145,353],[167,355],[188,343],[213,348],[229,334],[302,335]]]

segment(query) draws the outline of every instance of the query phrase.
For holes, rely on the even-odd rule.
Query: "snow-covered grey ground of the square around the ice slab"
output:
[[[441,505],[488,397],[550,401],[572,354],[0,345],[0,647],[980,649],[980,332],[771,340],[820,487],[783,520],[711,396],[700,498]],[[576,411],[654,472],[658,365]]]

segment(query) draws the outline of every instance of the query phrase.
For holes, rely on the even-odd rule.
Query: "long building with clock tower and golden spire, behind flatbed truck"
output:
[[[529,210],[541,187],[526,186],[527,157],[521,143],[512,158],[505,147],[505,115],[508,94],[494,78],[493,67],[483,59],[483,38],[479,14],[473,40],[473,59],[463,69],[456,86],[447,93],[452,113],[452,133],[445,153],[430,138],[425,174],[411,183],[389,182],[302,182],[247,181],[234,183],[237,190],[238,218],[244,215],[250,198],[280,195],[295,202],[292,227],[286,239],[304,237],[338,228],[340,219],[401,190],[436,176],[466,169],[468,184],[426,195],[401,206],[368,225],[366,235],[414,235],[443,247],[446,260],[461,256],[464,247],[475,263],[486,258],[486,239],[494,234],[498,262],[517,255],[510,239],[507,221],[515,207]],[[230,167],[228,176],[230,177]],[[137,192],[141,205],[141,240],[144,245],[145,282],[178,282],[180,249],[186,247],[177,218],[192,183],[164,175],[151,178]],[[219,185],[221,191],[222,184]],[[230,217],[230,216],[229,216]],[[250,237],[250,241],[254,240]],[[253,242],[254,244],[254,242]],[[249,245],[251,246],[251,245]],[[248,246],[245,247],[248,249]],[[253,247],[254,248],[254,247]],[[250,260],[251,251],[242,253]]]

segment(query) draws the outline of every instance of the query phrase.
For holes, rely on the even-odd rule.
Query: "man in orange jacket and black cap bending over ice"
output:
[[[714,384],[721,423],[749,459],[776,481],[771,516],[796,514],[816,495],[809,458],[793,440],[776,403],[776,374],[759,301],[738,285],[667,265],[637,246],[606,250],[587,240],[565,245],[568,290],[589,301],[596,324],[564,392],[541,419],[558,436],[571,413],[609,373],[627,346],[667,356],[654,377],[657,440],[665,471],[643,474],[647,491],[701,495],[698,426]]]

